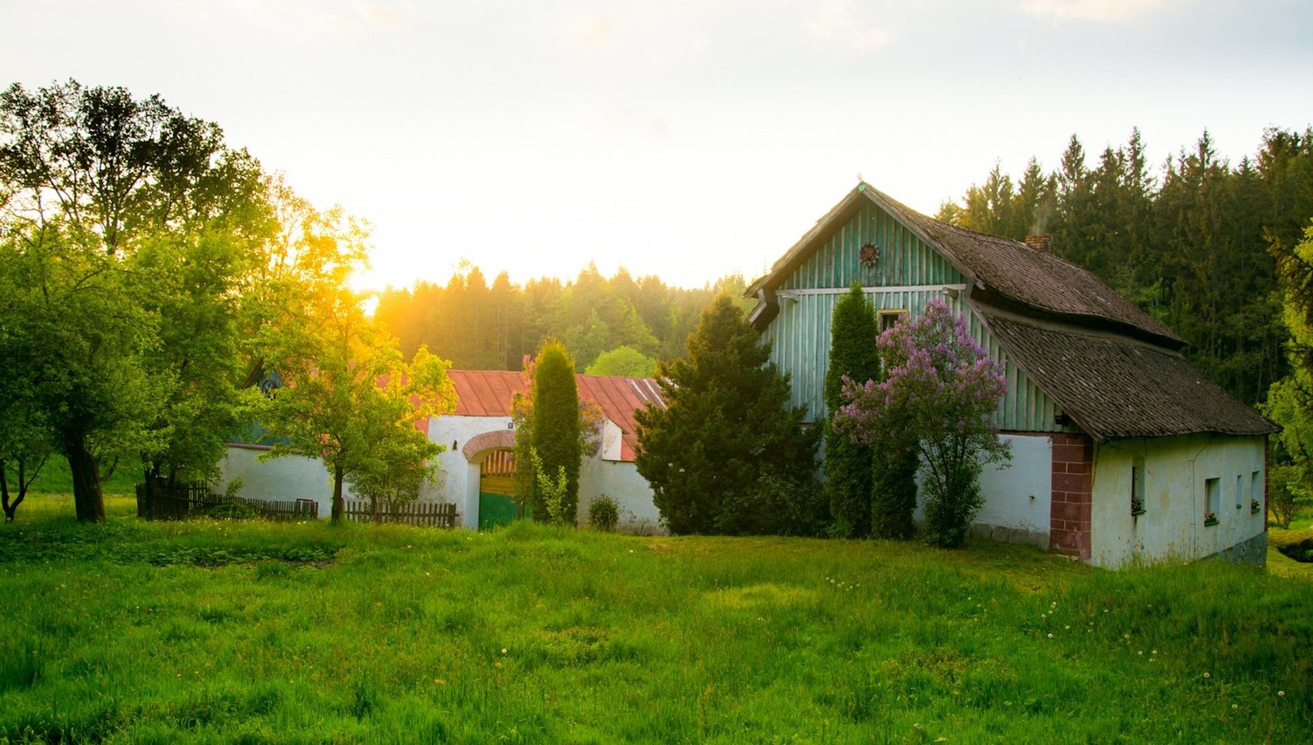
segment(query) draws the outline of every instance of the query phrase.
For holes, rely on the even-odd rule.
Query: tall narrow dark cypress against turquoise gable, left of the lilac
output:
[[[861,286],[853,283],[834,306],[830,321],[830,370],[825,376],[825,405],[832,416],[847,401],[843,376],[856,383],[878,379],[880,352],[876,311]],[[842,538],[871,534],[872,450],[851,437],[825,428],[825,492],[830,502],[832,533]]]

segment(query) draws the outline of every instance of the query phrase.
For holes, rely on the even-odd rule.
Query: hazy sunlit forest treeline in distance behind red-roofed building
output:
[[[527,355],[555,338],[583,372],[621,346],[653,359],[684,354],[702,307],[721,290],[742,298],[743,289],[739,275],[692,290],[654,275],[634,279],[625,269],[608,279],[592,264],[574,282],[515,285],[503,272],[490,285],[478,266],[462,264],[445,286],[420,281],[386,290],[374,317],[400,340],[403,354],[428,345],[457,370],[520,370]]]

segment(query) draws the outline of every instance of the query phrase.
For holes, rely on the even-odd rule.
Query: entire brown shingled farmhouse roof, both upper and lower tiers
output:
[[[1184,340],[1085,268],[927,218],[865,182],[748,287],[762,299],[751,315],[756,328],[777,310],[773,291],[867,205],[890,214],[966,275],[968,304],[1010,361],[1091,437],[1280,430],[1182,357]]]

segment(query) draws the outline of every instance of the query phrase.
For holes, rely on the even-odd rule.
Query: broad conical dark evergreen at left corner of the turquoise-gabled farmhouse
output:
[[[810,534],[825,505],[814,481],[819,429],[789,407],[789,382],[742,308],[721,294],[688,354],[663,363],[667,408],[635,412],[638,472],[675,534]]]

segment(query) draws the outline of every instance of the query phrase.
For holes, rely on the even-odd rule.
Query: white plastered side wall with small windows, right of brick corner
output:
[[[1130,514],[1136,456],[1145,467],[1145,514],[1140,517]],[[1204,525],[1207,479],[1218,479],[1221,487],[1215,526]],[[1116,568],[1130,561],[1199,559],[1254,539],[1263,533],[1264,515],[1262,509],[1250,510],[1250,498],[1263,502],[1264,479],[1262,437],[1196,434],[1096,443],[1090,561]]]

